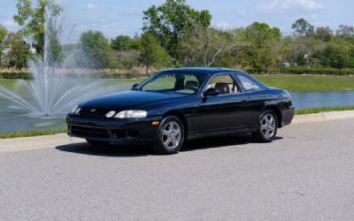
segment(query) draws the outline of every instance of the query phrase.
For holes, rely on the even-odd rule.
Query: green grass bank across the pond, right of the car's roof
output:
[[[266,85],[289,91],[350,91],[354,90],[354,76],[322,75],[253,75]]]

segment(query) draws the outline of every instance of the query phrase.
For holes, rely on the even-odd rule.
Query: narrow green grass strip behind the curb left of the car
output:
[[[42,135],[53,135],[58,133],[66,133],[66,127],[52,128],[52,129],[43,129],[43,130],[35,130],[35,131],[19,131],[12,133],[1,133],[0,139],[9,139],[9,138],[17,138],[17,137],[34,137],[34,136],[42,136]]]

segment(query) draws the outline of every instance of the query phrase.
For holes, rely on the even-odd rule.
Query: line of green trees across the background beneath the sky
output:
[[[7,33],[0,28],[0,44],[11,45],[8,57],[0,61],[4,66],[26,65],[28,45],[23,36],[31,38],[37,56],[43,55],[43,22],[46,7],[54,8],[50,18],[60,15],[60,8],[50,0],[18,0],[18,14],[14,16],[22,29]],[[144,66],[223,66],[268,72],[280,65],[292,67],[354,68],[354,27],[340,25],[314,27],[305,19],[291,25],[293,34],[284,36],[278,27],[254,22],[248,27],[222,30],[212,27],[209,11],[196,11],[185,0],[166,0],[143,11],[142,34],[134,37],[118,35],[107,39],[104,34],[89,30],[74,44],[61,45],[58,40],[58,19],[51,19],[50,54],[60,64],[65,55],[76,51],[76,65],[93,69]],[[16,57],[16,58],[12,58]]]

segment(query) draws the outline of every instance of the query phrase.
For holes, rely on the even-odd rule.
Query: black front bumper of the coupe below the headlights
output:
[[[84,118],[68,114],[66,124],[68,135],[73,137],[120,144],[146,144],[156,141],[158,126],[153,126],[152,122],[161,119]]]

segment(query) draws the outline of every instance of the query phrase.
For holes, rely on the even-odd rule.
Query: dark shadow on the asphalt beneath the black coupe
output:
[[[275,137],[274,140],[281,140],[282,137]],[[250,134],[237,134],[233,136],[215,136],[193,141],[187,141],[181,152],[188,152],[198,149],[215,149],[226,146],[238,146],[248,143],[254,143]],[[147,146],[119,146],[110,145],[108,147],[91,147],[88,143],[74,143],[56,147],[56,149],[64,152],[71,152],[82,155],[92,156],[119,156],[119,157],[135,157],[157,155]]]

